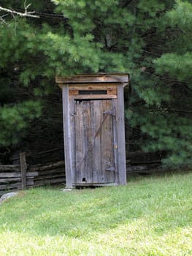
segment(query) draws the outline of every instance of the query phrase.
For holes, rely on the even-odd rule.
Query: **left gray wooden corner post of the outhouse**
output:
[[[63,116],[64,116],[64,151],[65,151],[65,170],[66,170],[66,187],[72,187],[73,173],[72,173],[72,145],[71,145],[71,131],[69,118],[69,87],[65,85],[62,87],[63,91]]]

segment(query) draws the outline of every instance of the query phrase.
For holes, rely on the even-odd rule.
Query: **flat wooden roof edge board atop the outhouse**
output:
[[[128,83],[128,74],[74,75],[56,77],[56,83]]]

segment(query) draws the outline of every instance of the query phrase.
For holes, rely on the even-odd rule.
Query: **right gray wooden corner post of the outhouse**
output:
[[[117,102],[117,131],[118,131],[118,176],[119,184],[126,184],[126,146],[123,84],[118,85]]]

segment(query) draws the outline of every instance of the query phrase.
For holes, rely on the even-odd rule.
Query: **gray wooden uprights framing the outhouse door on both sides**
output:
[[[66,187],[73,187],[75,184],[75,143],[74,143],[74,99],[69,99],[69,84],[59,83],[63,95],[63,116],[64,116],[64,151],[65,151],[65,170]],[[116,106],[117,136],[115,141],[115,164],[118,166],[117,184],[126,184],[126,148],[125,148],[125,124],[124,124],[124,98],[123,88],[125,83],[117,83],[117,99],[112,99],[112,104]]]

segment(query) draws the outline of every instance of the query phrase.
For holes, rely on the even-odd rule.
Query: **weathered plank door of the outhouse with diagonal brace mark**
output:
[[[76,184],[115,182],[111,99],[75,100]]]

